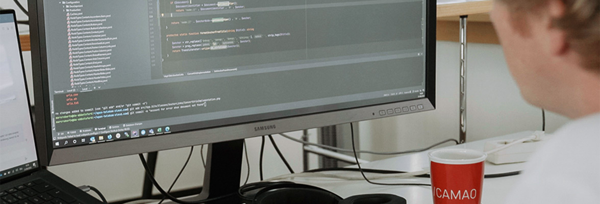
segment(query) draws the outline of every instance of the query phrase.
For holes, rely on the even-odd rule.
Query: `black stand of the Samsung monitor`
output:
[[[209,144],[202,192],[198,196],[187,197],[181,200],[210,199],[237,193],[241,181],[243,150],[243,139]],[[207,202],[206,204],[221,203],[236,204],[240,203],[240,199],[237,194],[234,194],[226,199],[219,199],[214,202]]]

